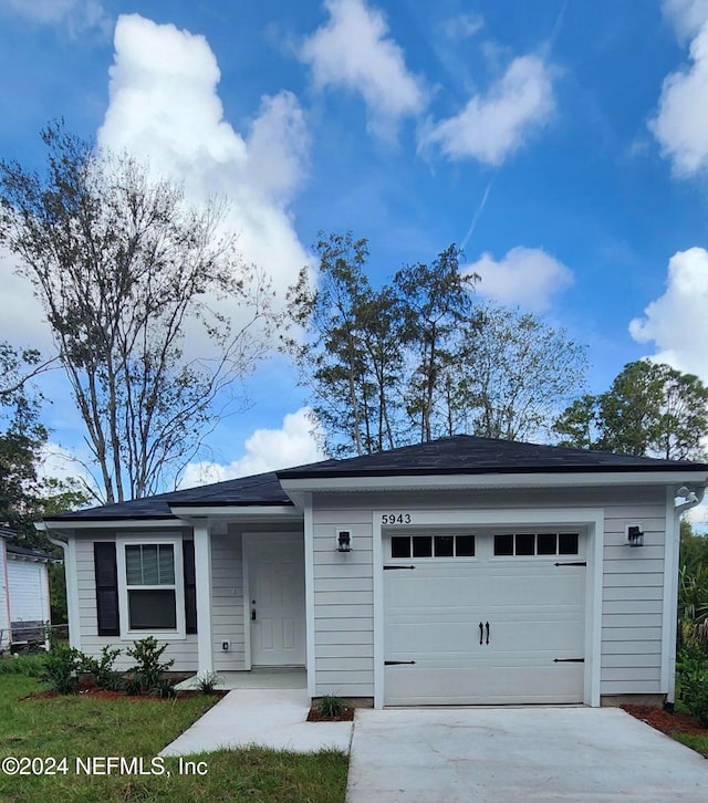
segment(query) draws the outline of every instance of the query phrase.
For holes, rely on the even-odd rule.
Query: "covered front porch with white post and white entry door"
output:
[[[292,505],[173,508],[194,533],[196,675],[219,689],[306,689],[305,550]]]

